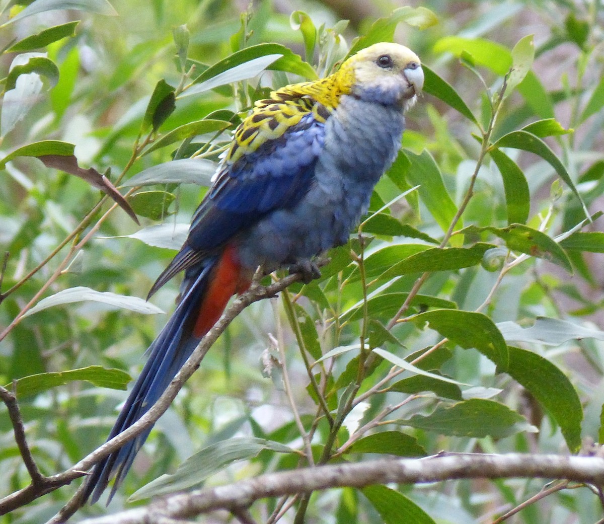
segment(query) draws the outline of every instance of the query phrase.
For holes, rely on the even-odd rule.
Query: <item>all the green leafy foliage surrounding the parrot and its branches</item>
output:
[[[420,10],[408,13],[395,10],[403,7],[397,1],[365,0],[69,4],[79,10],[50,10],[52,4],[5,0],[0,20],[0,243],[8,254],[0,377],[10,384],[45,374],[17,386],[43,474],[65,470],[104,442],[126,395],[119,389],[127,382],[123,371],[138,374],[166,319],[142,299],[182,241],[228,129],[253,101],[270,88],[329,73],[358,35],[388,39],[390,28],[394,41],[438,75],[428,78],[408,115],[405,153],[376,189],[364,240],[353,235],[333,251],[320,281],[292,286],[280,300],[240,315],[156,425],[109,508],[98,504],[82,516],[119,510],[196,452],[194,475],[149,485],[135,503],[182,485],[306,465],[292,452],[304,445],[283,391],[281,351],[316,462],[440,450],[567,453],[577,452],[581,437],[599,440],[604,234],[597,216],[585,220],[579,199],[592,215],[602,208],[599,1],[411,2]],[[25,16],[32,10],[39,12]],[[261,46],[269,42],[294,54]],[[283,57],[256,75],[268,65],[262,56],[272,53]],[[522,75],[531,71],[502,100],[512,64],[521,73],[526,66]],[[239,76],[204,85],[225,71]],[[96,174],[78,170],[72,154]],[[43,165],[47,155],[60,157],[59,169]],[[191,156],[200,160],[187,163]],[[182,167],[155,168],[173,159]],[[122,194],[134,187],[129,203],[141,226],[121,209],[108,211],[100,173]],[[178,183],[191,180],[196,184]],[[467,229],[449,238],[460,207],[463,225],[455,230]],[[434,248],[443,239],[440,256]],[[403,315],[408,321],[390,329],[426,271]],[[106,292],[114,295],[100,294]],[[170,283],[152,304],[169,312],[177,293],[178,282]],[[45,297],[50,302],[40,304]],[[35,304],[37,312],[21,318]],[[416,314],[423,316],[411,322]],[[341,427],[327,423],[300,351],[315,363],[316,389]],[[396,378],[396,365],[412,361],[429,374],[414,368]],[[451,380],[440,380],[444,375]],[[0,432],[5,496],[29,478],[5,412]],[[317,523],[494,522],[543,484],[331,490],[297,500],[280,522],[305,513],[306,522]],[[44,522],[73,491],[57,490],[2,522]],[[263,501],[252,513],[277,522],[289,502]],[[580,488],[561,490],[509,522],[601,517],[598,497]],[[216,514],[204,522],[228,520]]]

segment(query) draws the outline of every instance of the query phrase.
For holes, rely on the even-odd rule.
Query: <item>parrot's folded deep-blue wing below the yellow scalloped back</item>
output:
[[[193,216],[188,238],[149,296],[275,209],[295,206],[312,185],[325,124],[312,112],[283,135],[226,162]]]

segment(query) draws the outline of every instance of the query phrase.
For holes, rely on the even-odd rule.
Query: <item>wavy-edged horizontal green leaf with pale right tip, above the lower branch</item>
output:
[[[504,404],[484,398],[463,400],[451,407],[439,404],[430,415],[413,415],[406,420],[397,420],[397,423],[439,435],[471,438],[504,438],[519,432],[535,432],[522,415]]]

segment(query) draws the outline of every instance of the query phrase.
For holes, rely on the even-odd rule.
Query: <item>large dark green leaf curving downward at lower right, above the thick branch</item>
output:
[[[577,453],[581,447],[583,409],[576,389],[566,375],[544,357],[520,348],[510,346],[508,349],[507,373],[547,409],[560,426],[570,452]]]

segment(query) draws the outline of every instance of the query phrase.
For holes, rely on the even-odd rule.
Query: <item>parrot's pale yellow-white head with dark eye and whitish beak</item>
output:
[[[364,48],[344,62],[338,73],[347,77],[353,96],[402,109],[412,106],[423,88],[419,57],[398,43]]]

